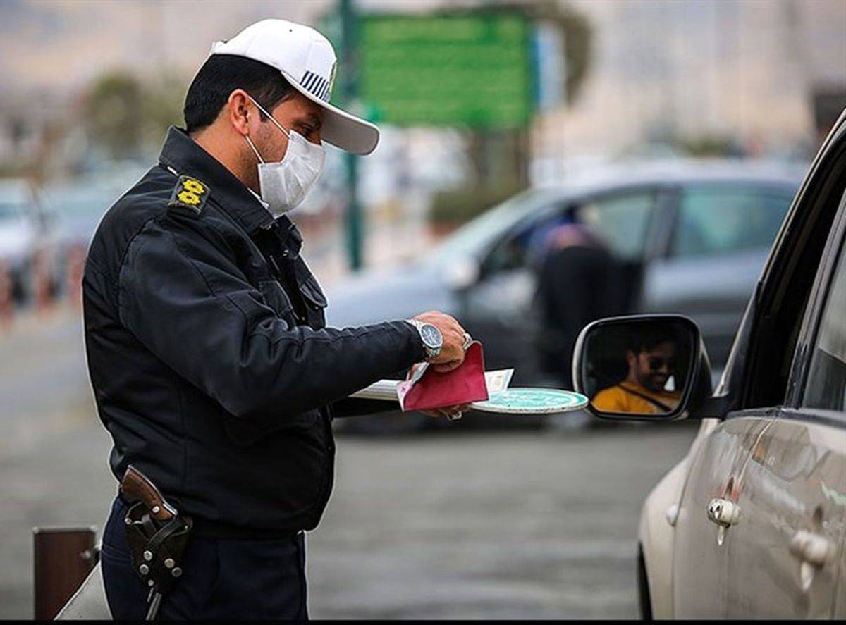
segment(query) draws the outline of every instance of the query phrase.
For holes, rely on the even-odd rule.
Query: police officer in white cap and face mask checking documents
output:
[[[85,346],[111,468],[133,464],[195,522],[164,618],[306,618],[303,530],[332,491],[333,411],[417,362],[464,359],[464,330],[437,312],[324,327],[285,212],[321,173],[322,140],[368,154],[379,137],[328,103],[335,63],[325,37],[281,19],[215,44],[186,129],[168,130],[91,244]],[[118,496],[102,573],[113,616],[139,619],[126,510]]]

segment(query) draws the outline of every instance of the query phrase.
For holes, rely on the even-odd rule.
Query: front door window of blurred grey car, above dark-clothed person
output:
[[[618,258],[640,260],[655,206],[653,191],[606,196],[580,206],[576,220],[593,228]]]

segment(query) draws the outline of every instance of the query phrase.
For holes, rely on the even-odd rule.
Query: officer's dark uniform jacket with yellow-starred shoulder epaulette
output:
[[[85,348],[113,473],[134,464],[210,535],[314,528],[330,404],[424,358],[404,321],[325,327],[300,243],[175,128],[91,243]]]

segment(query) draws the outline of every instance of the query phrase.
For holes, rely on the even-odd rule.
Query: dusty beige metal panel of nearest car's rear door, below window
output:
[[[739,479],[739,523],[729,529],[729,618],[829,618],[838,562],[809,569],[791,553],[799,531],[837,548],[846,511],[846,430],[779,412],[765,419]],[[840,558],[842,559],[842,557]],[[807,567],[805,567],[807,568]]]

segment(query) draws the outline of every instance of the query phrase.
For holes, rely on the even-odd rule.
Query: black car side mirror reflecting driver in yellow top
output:
[[[711,364],[699,327],[682,315],[594,321],[576,341],[576,391],[602,419],[686,419],[711,397]]]

